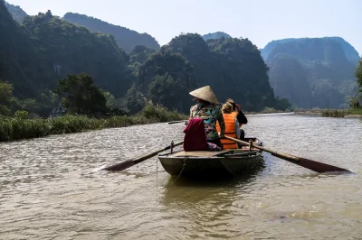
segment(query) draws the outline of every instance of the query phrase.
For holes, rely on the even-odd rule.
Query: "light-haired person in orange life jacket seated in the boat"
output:
[[[240,129],[239,122],[237,120],[237,112],[233,111],[233,105],[226,102],[223,105],[223,116],[225,122],[225,135],[240,138]],[[217,130],[220,129],[219,125],[216,125]],[[237,149],[238,144],[229,140],[229,139],[221,139],[221,143],[224,149]]]

